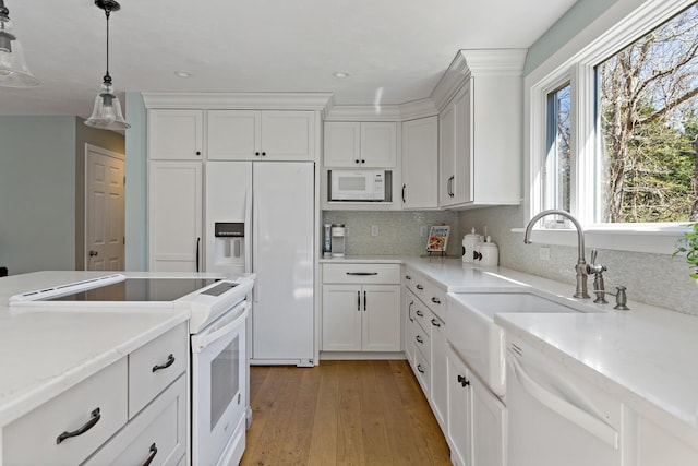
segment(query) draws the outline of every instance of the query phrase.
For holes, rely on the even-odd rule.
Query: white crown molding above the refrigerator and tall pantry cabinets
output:
[[[145,108],[317,110],[327,112],[332,93],[142,93]]]

